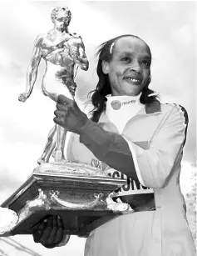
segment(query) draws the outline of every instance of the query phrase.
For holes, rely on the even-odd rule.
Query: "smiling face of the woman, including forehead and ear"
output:
[[[111,83],[111,94],[138,95],[150,78],[151,53],[139,38],[119,38],[113,48],[110,63],[103,61],[103,73]]]

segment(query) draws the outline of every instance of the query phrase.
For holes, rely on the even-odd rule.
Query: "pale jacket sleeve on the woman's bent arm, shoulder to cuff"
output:
[[[126,138],[135,161],[140,183],[149,188],[164,188],[173,167],[180,160],[186,140],[188,115],[185,108],[175,105],[165,123],[143,149]]]

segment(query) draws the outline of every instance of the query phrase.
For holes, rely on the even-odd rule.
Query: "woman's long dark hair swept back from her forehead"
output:
[[[96,89],[88,93],[88,98],[94,106],[93,110],[91,110],[91,120],[93,122],[97,123],[101,116],[101,113],[106,110],[106,95],[111,94],[111,84],[108,78],[108,74],[102,72],[102,61],[106,61],[108,63],[111,62],[112,48],[114,44],[119,38],[124,37],[139,38],[137,36],[130,34],[121,35],[119,37],[112,38],[111,40],[106,41],[105,43],[102,43],[98,47],[99,49],[96,53],[96,57],[98,57],[99,60],[96,68],[96,73],[98,75],[99,81],[96,85]],[[155,101],[155,98],[158,97],[158,95],[155,95],[154,91],[148,88],[150,81],[151,78],[148,80],[146,86],[142,89],[142,93],[140,95],[140,103],[142,104],[152,103],[153,101]],[[154,95],[149,96],[152,93],[154,93]]]

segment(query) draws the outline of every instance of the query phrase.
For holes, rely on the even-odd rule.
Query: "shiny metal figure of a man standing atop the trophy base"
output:
[[[25,102],[30,97],[37,79],[37,69],[41,58],[46,62],[46,71],[42,79],[42,92],[55,102],[57,102],[59,94],[74,99],[76,70],[78,67],[83,70],[88,69],[89,63],[86,59],[82,38],[76,33],[68,32],[71,11],[66,7],[58,7],[52,10],[51,16],[54,28],[37,37],[31,64],[27,70],[26,93],[20,94],[19,101]],[[56,139],[54,139],[55,137]],[[51,155],[56,162],[65,160],[63,153],[65,138],[66,130],[64,128],[59,125],[52,128],[38,163],[48,162]]]

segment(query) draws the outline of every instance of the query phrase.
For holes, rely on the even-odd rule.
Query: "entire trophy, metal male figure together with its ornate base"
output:
[[[19,101],[30,97],[41,58],[46,61],[42,92],[56,103],[59,94],[74,100],[77,68],[88,69],[81,37],[68,32],[70,10],[53,9],[52,22],[54,28],[37,37],[27,71],[27,90],[20,94]],[[0,237],[31,234],[47,214],[61,216],[64,233],[86,237],[116,215],[133,211],[129,204],[113,200],[114,191],[126,180],[111,178],[100,168],[66,160],[65,139],[66,129],[55,125],[37,161],[39,166],[0,207]],[[51,156],[55,162],[49,162]]]

